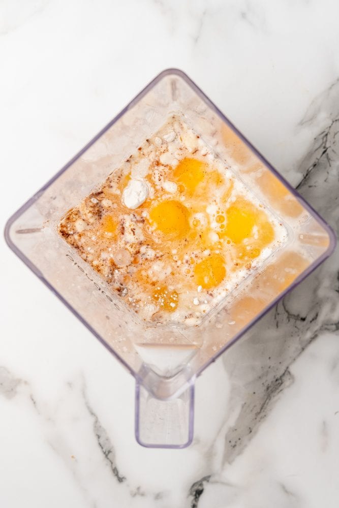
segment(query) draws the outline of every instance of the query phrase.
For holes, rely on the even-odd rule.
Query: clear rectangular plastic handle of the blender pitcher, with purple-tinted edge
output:
[[[179,396],[158,399],[136,382],[135,437],[146,448],[186,448],[193,439],[194,382]]]

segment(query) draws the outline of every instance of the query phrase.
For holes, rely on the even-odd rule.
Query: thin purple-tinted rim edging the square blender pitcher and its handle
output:
[[[43,274],[39,271],[39,269],[30,262],[29,259],[26,258],[26,256],[23,254],[23,252],[17,248],[17,246],[12,242],[10,238],[10,227],[14,223],[14,221],[20,217],[20,215],[29,208],[34,201],[36,201],[60,175],[62,175],[93,143],[95,143],[122,115],[124,115],[130,108],[132,108],[135,104],[139,102],[139,100],[151,89],[153,86],[155,86],[159,81],[161,81],[165,76],[168,75],[176,75],[183,79],[196,93],[197,95],[236,133],[236,135],[250,148],[250,150],[255,153],[255,155],[259,158],[259,160],[278,178],[285,187],[289,189],[291,194],[302,204],[302,206],[308,210],[313,217],[315,217],[318,220],[318,223],[321,224],[321,226],[327,231],[330,243],[327,248],[327,250],[317,259],[315,260],[309,267],[307,267],[296,279],[292,282],[292,284],[286,288],[282,293],[280,293],[272,302],[270,302],[269,305],[267,305],[256,317],[250,321],[239,333],[237,333],[233,339],[224,345],[224,347],[221,348],[218,353],[216,353],[214,356],[212,356],[200,369],[192,375],[192,378],[194,379],[196,376],[200,375],[201,372],[208,367],[212,362],[214,362],[220,355],[222,355],[231,345],[233,345],[246,331],[249,330],[253,325],[255,325],[261,317],[266,314],[279,300],[281,300],[287,293],[289,293],[297,284],[299,284],[307,275],[310,275],[325,259],[327,259],[331,253],[333,252],[335,245],[336,245],[336,237],[333,232],[333,230],[330,228],[330,226],[325,222],[325,220],[322,219],[322,217],[318,214],[318,212],[311,206],[309,203],[307,203],[299,194],[298,192],[289,184],[285,178],[276,171],[271,164],[266,161],[265,157],[236,129],[236,127],[233,125],[233,123],[213,104],[208,97],[205,95],[205,93],[188,77],[187,74],[185,74],[183,71],[180,71],[179,69],[166,69],[158,76],[156,76],[150,83],[148,83],[143,90],[141,90],[137,96],[132,99],[132,101],[120,111],[89,143],[87,143],[63,168],[61,168],[50,180],[48,180],[45,185],[43,185],[38,192],[30,198],[26,203],[24,203],[7,221],[7,224],[5,226],[5,240],[8,244],[8,246],[13,250],[13,252],[25,263],[25,265],[32,270],[40,279],[41,281],[47,286],[47,288],[54,293],[61,302],[63,302],[66,307],[68,307],[71,312],[81,321],[81,323],[91,332],[97,339],[107,348],[107,350],[117,358],[122,365],[125,365],[125,367],[131,372],[131,374],[135,377],[137,381],[137,385],[142,384],[142,379],[138,375],[137,372],[135,372],[128,363],[122,359],[104,340],[103,338],[96,332],[96,330],[90,326],[89,323],[84,319],[84,317],[81,316],[73,307],[70,305],[70,303],[62,296],[56,289],[44,278]],[[189,380],[188,380],[189,382]],[[183,388],[180,388],[177,390],[177,392],[173,395],[173,397],[178,396],[180,393],[182,393],[184,390],[187,389],[187,385],[184,385]],[[193,402],[193,392],[191,391],[191,400],[190,403]],[[137,415],[136,415],[137,416]],[[139,413],[138,413],[139,416]],[[193,418],[191,418],[190,415],[190,424],[189,424],[189,436],[193,436]],[[137,422],[137,420],[136,420]],[[136,427],[136,435],[139,433],[138,427]],[[138,438],[137,438],[138,440]],[[138,441],[139,442],[139,441]],[[142,444],[142,443],[140,443]],[[187,447],[190,444],[190,441],[188,441],[186,444],[180,446],[179,448]],[[147,448],[154,448],[155,446],[152,444],[143,444],[143,446]],[[162,446],[163,447],[163,446]],[[176,445],[166,445],[164,448],[178,448]]]

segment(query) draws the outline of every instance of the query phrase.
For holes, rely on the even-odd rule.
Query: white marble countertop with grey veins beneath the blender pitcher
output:
[[[338,17],[335,0],[4,0],[3,226],[178,67],[337,229]],[[2,508],[337,508],[337,251],[198,379],[194,442],[169,451],[136,443],[132,376],[0,248]]]

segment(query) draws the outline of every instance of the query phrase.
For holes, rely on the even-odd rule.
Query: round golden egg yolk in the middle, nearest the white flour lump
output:
[[[188,232],[189,211],[176,200],[161,201],[149,211],[149,219],[156,230],[171,238],[181,238]]]

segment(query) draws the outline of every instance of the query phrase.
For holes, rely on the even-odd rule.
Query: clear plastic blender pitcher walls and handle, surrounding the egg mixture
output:
[[[57,226],[172,114],[232,168],[284,225],[284,243],[199,326],[142,322],[61,238]],[[332,252],[324,220],[188,78],[162,72],[8,221],[19,258],[136,379],[135,433],[146,447],[183,448],[193,438],[196,377]]]

